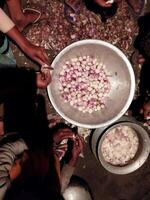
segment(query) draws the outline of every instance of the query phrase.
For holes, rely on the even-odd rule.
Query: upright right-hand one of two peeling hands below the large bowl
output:
[[[80,153],[83,152],[83,148],[84,148],[84,139],[81,136],[77,135],[74,140],[72,149],[72,158],[68,163],[69,165],[71,165],[72,167],[76,165]]]

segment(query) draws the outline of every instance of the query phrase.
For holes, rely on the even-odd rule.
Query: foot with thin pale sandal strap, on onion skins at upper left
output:
[[[19,19],[13,19],[20,31],[23,31],[28,25],[48,18],[46,13],[40,13],[34,10],[25,9]]]

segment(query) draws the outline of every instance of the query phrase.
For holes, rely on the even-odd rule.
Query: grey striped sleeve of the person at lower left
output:
[[[27,149],[22,139],[7,143],[0,147],[0,199],[3,199],[7,189],[10,187],[9,172],[17,155]]]

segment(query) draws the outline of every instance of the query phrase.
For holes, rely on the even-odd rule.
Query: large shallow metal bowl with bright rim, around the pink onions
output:
[[[67,60],[93,56],[104,63],[110,75],[111,91],[106,106],[92,114],[82,113],[65,103],[59,93],[59,73]],[[135,90],[135,77],[127,57],[117,47],[101,40],[82,40],[63,49],[52,63],[52,83],[48,95],[53,107],[68,122],[85,128],[98,128],[118,120],[128,109]]]

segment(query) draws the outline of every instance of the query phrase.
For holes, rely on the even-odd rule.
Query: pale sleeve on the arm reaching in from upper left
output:
[[[0,8],[0,31],[7,33],[15,26],[14,22]]]

